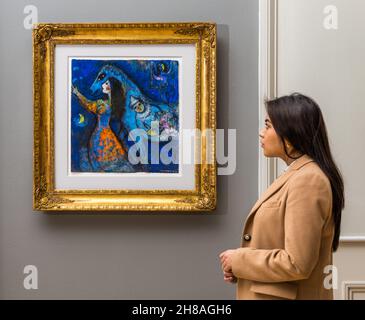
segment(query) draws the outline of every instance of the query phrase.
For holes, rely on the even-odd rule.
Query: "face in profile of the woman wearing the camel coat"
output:
[[[260,144],[266,157],[282,157],[284,146],[271,123],[268,115],[265,117],[265,127],[260,130]]]

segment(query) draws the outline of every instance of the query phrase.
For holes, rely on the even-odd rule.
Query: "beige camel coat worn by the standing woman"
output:
[[[263,193],[232,255],[237,299],[333,299],[331,185],[308,155]],[[326,289],[327,287],[327,289]]]

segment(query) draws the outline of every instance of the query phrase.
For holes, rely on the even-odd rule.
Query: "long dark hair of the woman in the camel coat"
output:
[[[336,251],[340,238],[341,211],[345,206],[344,183],[332,158],[321,109],[313,99],[300,93],[266,101],[265,104],[286,155],[295,159],[288,154],[285,140],[295,150],[315,160],[331,183],[332,217],[335,224],[332,250]]]

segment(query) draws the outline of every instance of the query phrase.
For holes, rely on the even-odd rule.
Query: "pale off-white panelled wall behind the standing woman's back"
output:
[[[345,182],[341,236],[365,239],[365,2],[279,2],[278,93],[301,91],[318,101]],[[323,27],[329,4],[338,9],[338,29]],[[335,298],[344,298],[344,282],[361,282],[353,298],[365,299],[365,242],[341,242],[334,265]]]

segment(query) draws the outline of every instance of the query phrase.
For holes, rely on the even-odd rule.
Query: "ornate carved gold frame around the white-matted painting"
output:
[[[54,53],[58,44],[194,44],[196,128],[200,145],[195,189],[56,190],[54,187]],[[37,24],[33,29],[33,209],[38,211],[212,211],[216,207],[216,24]]]

